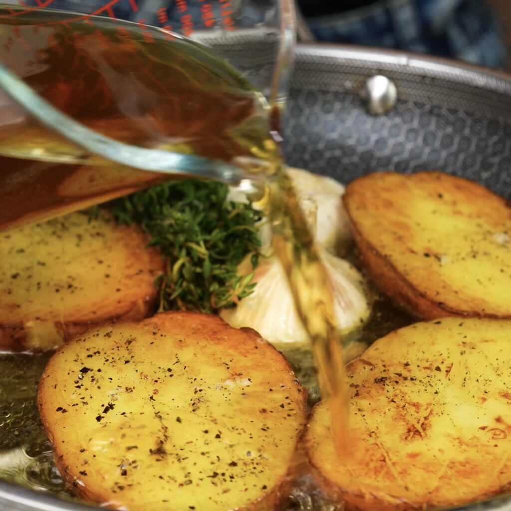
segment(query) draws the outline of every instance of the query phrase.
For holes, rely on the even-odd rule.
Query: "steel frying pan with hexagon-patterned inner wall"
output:
[[[360,98],[375,75],[393,81],[399,98],[380,116]],[[368,172],[436,169],[511,198],[511,77],[500,72],[400,52],[300,45],[283,126],[289,165],[343,183]],[[0,396],[8,396],[3,385],[0,379]],[[91,507],[0,481],[0,509]],[[458,509],[511,511],[511,497]]]

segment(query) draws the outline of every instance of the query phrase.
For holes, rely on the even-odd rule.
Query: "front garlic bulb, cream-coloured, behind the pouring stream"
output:
[[[320,246],[318,250],[330,277],[336,326],[345,334],[360,327],[369,316],[364,281],[350,263]],[[261,261],[254,282],[254,292],[236,308],[223,310],[221,317],[233,327],[257,330],[271,343],[308,342],[280,261],[275,257]]]

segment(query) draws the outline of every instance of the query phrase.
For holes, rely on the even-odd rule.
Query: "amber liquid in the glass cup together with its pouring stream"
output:
[[[186,39],[135,25],[120,30],[109,20],[95,20],[94,26],[61,23],[57,14],[41,24],[40,16],[0,17],[0,39],[7,40],[3,62],[61,111],[141,147],[224,161],[248,156],[247,176],[265,174],[261,202],[272,224],[274,250],[311,339],[337,449],[345,454],[347,386],[332,290],[270,135],[278,130],[272,126],[278,115],[271,115],[262,95],[225,61]],[[25,32],[23,43],[7,36],[13,31]],[[15,105],[8,108],[0,125],[0,229],[168,178],[85,154]]]

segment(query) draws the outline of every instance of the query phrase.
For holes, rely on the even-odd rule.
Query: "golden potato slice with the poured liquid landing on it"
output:
[[[347,366],[353,453],[327,403],[306,444],[347,509],[450,507],[511,482],[511,321],[445,318],[376,341]]]

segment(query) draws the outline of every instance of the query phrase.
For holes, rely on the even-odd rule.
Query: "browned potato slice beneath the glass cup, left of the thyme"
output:
[[[142,319],[162,260],[136,227],[85,213],[0,233],[0,349],[51,350],[113,319]]]

